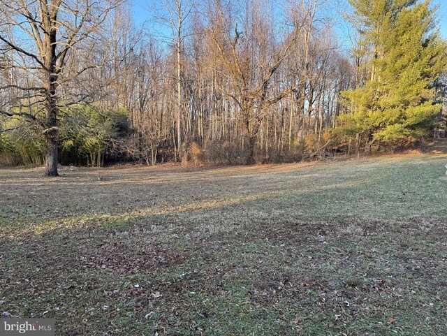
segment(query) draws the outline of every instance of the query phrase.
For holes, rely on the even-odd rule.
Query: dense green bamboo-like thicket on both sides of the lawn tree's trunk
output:
[[[132,136],[124,111],[103,112],[91,106],[64,110],[59,120],[59,163],[103,166],[124,159],[123,144]],[[0,119],[0,165],[41,166],[45,160],[43,129],[20,117]]]

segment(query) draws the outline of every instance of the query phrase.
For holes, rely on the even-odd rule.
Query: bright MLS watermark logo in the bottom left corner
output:
[[[54,336],[54,319],[1,319],[0,336]]]

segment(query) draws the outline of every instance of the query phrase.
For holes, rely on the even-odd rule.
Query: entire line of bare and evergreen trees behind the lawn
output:
[[[36,24],[36,2],[62,25]],[[411,145],[440,117],[447,49],[430,1],[349,0],[349,53],[328,1],[166,0],[158,30],[103,2],[0,4],[13,19],[0,33],[0,163],[299,161]],[[50,42],[21,48],[24,29],[45,40],[52,24],[53,68]]]

